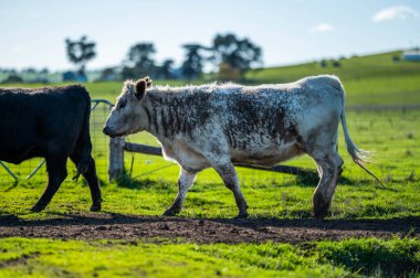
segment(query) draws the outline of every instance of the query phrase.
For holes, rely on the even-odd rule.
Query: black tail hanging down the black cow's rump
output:
[[[91,96],[87,90],[82,87],[83,96],[85,98],[85,109],[82,129],[78,136],[76,151],[78,152],[80,161],[77,163],[77,170],[75,175],[73,177],[76,180],[81,174],[87,172],[91,165],[92,159],[92,141],[91,141],[91,132],[90,132],[90,120],[91,120]]]

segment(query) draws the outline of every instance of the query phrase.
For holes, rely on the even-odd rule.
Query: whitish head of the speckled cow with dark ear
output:
[[[147,127],[148,118],[143,100],[150,86],[151,79],[149,77],[124,83],[117,103],[105,122],[103,130],[105,135],[111,137],[125,136],[141,131]]]

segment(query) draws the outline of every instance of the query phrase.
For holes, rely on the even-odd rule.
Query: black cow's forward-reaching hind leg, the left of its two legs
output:
[[[31,211],[41,212],[50,203],[51,199],[59,190],[61,183],[67,177],[66,158],[46,158],[46,171],[49,174],[49,183],[44,193],[38,203],[32,206]]]

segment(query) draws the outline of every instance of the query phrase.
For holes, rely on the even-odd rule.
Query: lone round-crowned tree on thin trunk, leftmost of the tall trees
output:
[[[70,62],[78,65],[81,75],[85,75],[86,63],[96,56],[95,42],[88,42],[87,36],[83,35],[78,41],[65,39],[66,52]]]

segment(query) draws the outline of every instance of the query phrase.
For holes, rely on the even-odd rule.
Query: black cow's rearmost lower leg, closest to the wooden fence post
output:
[[[70,157],[74,164],[77,167],[80,163],[80,156],[73,154]],[[98,212],[101,211],[101,204],[102,204],[102,194],[101,194],[101,188],[99,188],[99,181],[97,179],[96,174],[96,167],[95,167],[95,160],[91,157],[87,171],[82,173],[83,178],[87,181],[87,184],[91,190],[91,196],[92,196],[92,212]]]

